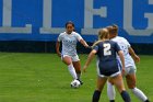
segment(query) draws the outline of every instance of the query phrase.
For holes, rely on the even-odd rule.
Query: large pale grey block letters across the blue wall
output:
[[[12,15],[15,14],[12,11],[13,0],[2,0],[2,26],[0,26],[0,33],[32,34],[32,24],[25,24],[24,27],[12,26]],[[81,30],[82,34],[97,34],[98,29],[94,29],[93,26],[94,15],[107,18],[107,8],[101,7],[99,9],[94,9],[94,3],[96,3],[95,0],[84,0],[84,27]],[[149,0],[149,4],[153,4],[153,0]],[[43,26],[39,29],[40,34],[59,34],[64,31],[64,27],[52,27],[52,0],[43,0]],[[133,0],[123,0],[123,30],[126,30],[129,35],[149,36],[153,34],[153,12],[145,12],[143,15],[148,19],[148,27],[144,30],[136,30],[132,26],[132,10]]]

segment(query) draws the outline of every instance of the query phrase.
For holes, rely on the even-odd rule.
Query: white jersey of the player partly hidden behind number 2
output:
[[[128,67],[134,67],[136,68],[134,61],[133,61],[132,57],[129,54],[128,48],[131,46],[129,44],[129,42],[126,38],[120,37],[120,36],[116,36],[116,37],[111,38],[111,41],[116,42],[120,46],[121,50],[123,52],[125,67],[126,68],[128,68]],[[118,59],[120,60],[119,57],[118,57]]]

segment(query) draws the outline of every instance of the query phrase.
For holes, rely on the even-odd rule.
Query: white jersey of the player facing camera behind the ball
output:
[[[82,39],[81,35],[76,32],[67,34],[67,32],[60,33],[58,42],[62,42],[62,55],[75,56],[76,55],[76,43]]]

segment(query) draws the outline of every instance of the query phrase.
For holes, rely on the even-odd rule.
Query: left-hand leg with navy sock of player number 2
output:
[[[97,78],[96,90],[94,91],[92,102],[98,102],[101,92],[103,91],[106,81],[107,78],[99,78],[99,77]]]

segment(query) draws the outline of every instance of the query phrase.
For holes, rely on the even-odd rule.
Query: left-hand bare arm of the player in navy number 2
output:
[[[86,71],[86,68],[87,68],[89,65],[91,64],[91,61],[92,61],[92,59],[94,58],[94,56],[95,56],[96,53],[97,53],[97,50],[95,50],[95,49],[93,49],[93,50],[90,53],[90,55],[89,55],[89,57],[87,57],[87,60],[86,60],[86,63],[85,63],[85,65],[84,65],[84,67],[83,67],[83,71],[84,71],[84,72]]]

